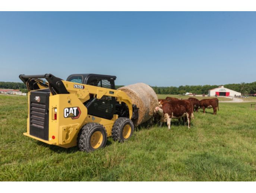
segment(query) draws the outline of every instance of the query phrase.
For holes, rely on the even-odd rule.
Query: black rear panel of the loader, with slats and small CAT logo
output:
[[[49,96],[50,90],[30,93],[30,135],[48,140],[49,136]]]

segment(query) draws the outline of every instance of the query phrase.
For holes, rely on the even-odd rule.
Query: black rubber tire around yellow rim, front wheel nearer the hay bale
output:
[[[131,134],[127,139],[124,139],[123,138],[123,128],[127,124],[129,124],[131,126]],[[114,122],[111,134],[112,134],[112,138],[114,141],[124,142],[132,136],[133,131],[134,131],[134,125],[133,125],[132,120],[125,118],[125,117],[120,117]]]

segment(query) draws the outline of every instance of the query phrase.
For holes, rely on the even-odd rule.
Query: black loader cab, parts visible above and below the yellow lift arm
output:
[[[91,86],[102,87],[106,89],[115,89],[116,76],[101,75],[101,74],[72,74],[67,77],[67,81],[80,84],[88,84]],[[90,100],[85,102],[85,106],[94,99],[90,95]],[[103,96],[97,99],[88,107],[88,114],[97,116],[104,119],[112,119],[116,112],[116,99],[115,97]]]

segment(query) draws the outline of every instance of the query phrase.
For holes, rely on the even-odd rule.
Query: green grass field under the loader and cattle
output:
[[[0,181],[255,181],[256,110],[220,103],[195,113],[192,128],[136,129],[92,153],[24,136],[27,97],[0,96]]]

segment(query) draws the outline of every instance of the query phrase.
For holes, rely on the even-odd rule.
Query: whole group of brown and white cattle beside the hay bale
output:
[[[214,115],[217,114],[217,108],[219,110],[219,100],[214,99],[202,99],[198,100],[196,98],[190,97],[189,99],[177,99],[174,97],[166,97],[165,99],[158,100],[159,106],[155,107],[154,118],[162,123],[167,122],[168,129],[171,129],[171,119],[183,118],[184,122],[187,122],[188,128],[191,125],[191,118],[194,118],[194,111],[198,112],[198,109],[203,109],[205,113],[205,108],[213,108]]]

